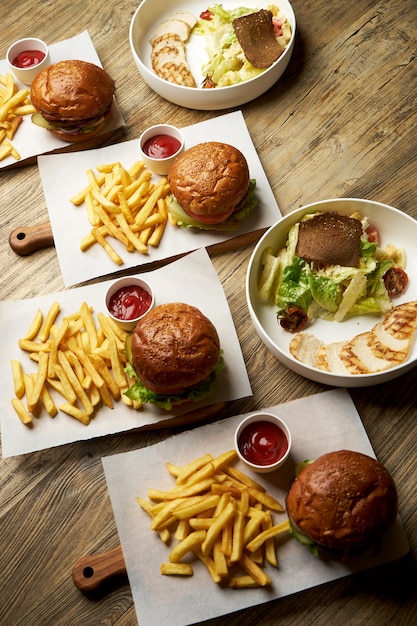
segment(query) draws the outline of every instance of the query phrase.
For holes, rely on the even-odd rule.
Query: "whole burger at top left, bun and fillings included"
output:
[[[30,86],[36,109],[32,122],[62,141],[86,141],[98,135],[109,119],[114,91],[114,80],[94,63],[53,63]]]

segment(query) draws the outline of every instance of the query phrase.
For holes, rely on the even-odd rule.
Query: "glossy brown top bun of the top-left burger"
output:
[[[102,115],[111,105],[113,79],[101,67],[69,60],[49,65],[32,81],[33,106],[46,120],[77,121]]]

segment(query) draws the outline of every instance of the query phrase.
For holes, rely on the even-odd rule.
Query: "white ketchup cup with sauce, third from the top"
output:
[[[142,278],[119,278],[106,292],[107,313],[124,330],[133,330],[154,304],[153,289]]]

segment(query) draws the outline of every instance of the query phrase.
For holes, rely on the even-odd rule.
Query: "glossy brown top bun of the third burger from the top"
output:
[[[132,364],[151,391],[181,393],[215,369],[220,341],[212,322],[196,307],[161,304],[139,320],[132,335]]]

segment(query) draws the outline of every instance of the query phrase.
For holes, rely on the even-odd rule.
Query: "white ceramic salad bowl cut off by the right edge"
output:
[[[366,215],[372,225],[380,233],[381,246],[392,243],[405,250],[407,262],[406,271],[409,284],[406,291],[396,298],[394,304],[417,300],[417,221],[412,217],[391,206],[356,198],[340,198],[323,200],[304,206],[271,226],[257,243],[248,265],[246,276],[246,299],[249,313],[257,333],[265,346],[276,358],[297,374],[325,385],[340,387],[367,387],[392,380],[410,370],[417,363],[417,341],[406,361],[376,374],[358,374],[343,376],[331,372],[321,371],[296,360],[289,351],[289,343],[293,335],[284,331],[277,322],[277,307],[271,303],[261,302],[258,298],[259,276],[261,272],[261,258],[263,251],[271,247],[278,251],[285,245],[287,234],[293,224],[301,217],[312,211],[336,211],[350,215],[358,211]],[[378,318],[380,319],[380,318]],[[308,331],[326,343],[350,339],[355,335],[370,330],[376,323],[373,316],[358,316],[343,322],[326,322],[316,320]]]

